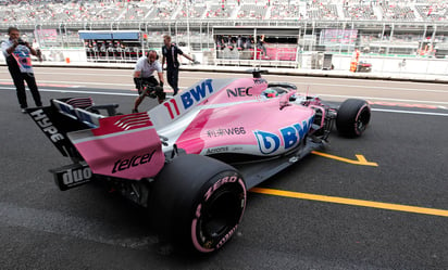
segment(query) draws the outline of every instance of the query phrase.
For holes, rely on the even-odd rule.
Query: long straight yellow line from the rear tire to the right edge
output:
[[[311,201],[319,201],[319,202],[325,202],[325,203],[346,204],[346,205],[379,208],[379,209],[386,209],[386,210],[408,211],[408,213],[414,213],[414,214],[425,214],[425,215],[448,217],[448,210],[425,208],[425,207],[418,207],[418,206],[387,204],[387,203],[378,203],[378,202],[372,202],[372,201],[315,195],[315,194],[310,194],[310,193],[282,191],[282,190],[274,190],[274,189],[264,189],[264,188],[252,188],[250,189],[250,192],[282,196],[282,197],[294,197],[294,198],[311,200]]]

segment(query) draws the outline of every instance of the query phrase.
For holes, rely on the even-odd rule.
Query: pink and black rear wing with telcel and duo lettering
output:
[[[148,113],[103,116],[95,112],[104,108],[114,113],[116,106],[94,106],[85,98],[50,103],[27,112],[61,154],[74,162],[51,170],[61,190],[84,183],[94,175],[151,178],[163,167],[162,142]]]

